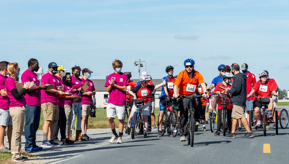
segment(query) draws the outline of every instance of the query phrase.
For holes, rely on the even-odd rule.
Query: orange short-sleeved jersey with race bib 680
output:
[[[193,73],[194,75],[192,78],[189,77],[189,74],[186,70],[181,71],[178,74],[174,85],[179,86],[179,95],[191,95],[195,92],[199,93],[198,86],[205,81],[201,73],[196,70],[193,70]]]

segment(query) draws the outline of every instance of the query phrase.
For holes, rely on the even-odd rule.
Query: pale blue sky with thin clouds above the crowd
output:
[[[247,63],[257,75],[269,71],[288,90],[289,1],[0,1],[1,61],[30,58],[47,71],[49,62],[112,73],[114,59],[123,72],[141,71],[159,79],[165,67],[184,70],[187,58],[210,84],[220,64]]]

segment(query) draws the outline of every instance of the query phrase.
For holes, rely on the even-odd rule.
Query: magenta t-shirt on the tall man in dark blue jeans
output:
[[[34,82],[34,86],[40,86],[40,82],[36,73],[27,69],[23,72],[21,76],[21,82]],[[25,101],[27,105],[30,106],[41,106],[40,98],[41,98],[41,90],[36,90],[34,92],[27,92],[25,94]]]

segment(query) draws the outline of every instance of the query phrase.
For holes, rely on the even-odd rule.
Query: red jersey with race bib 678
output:
[[[274,86],[271,82],[267,82],[266,84],[262,84],[261,81],[257,81],[254,85],[253,89],[256,91],[255,95],[257,97],[269,97],[274,91]],[[259,98],[254,97],[254,101],[259,100]]]

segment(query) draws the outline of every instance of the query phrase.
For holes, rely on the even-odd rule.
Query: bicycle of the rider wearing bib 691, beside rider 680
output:
[[[169,132],[169,128],[171,129],[171,135],[173,137],[177,136],[177,132],[178,132],[178,128],[179,128],[179,116],[178,116],[178,112],[177,110],[175,110],[175,106],[174,106],[174,97],[170,97],[170,99],[172,100],[172,104],[168,104],[168,102],[166,102],[166,107],[165,107],[165,113],[164,113],[164,117],[163,117],[163,121],[162,121],[162,136],[165,134],[165,132]],[[170,114],[168,114],[168,110],[171,109]],[[160,123],[159,123],[159,118],[160,118],[160,114],[158,116],[158,129],[160,127]],[[166,131],[167,129],[167,131]]]

